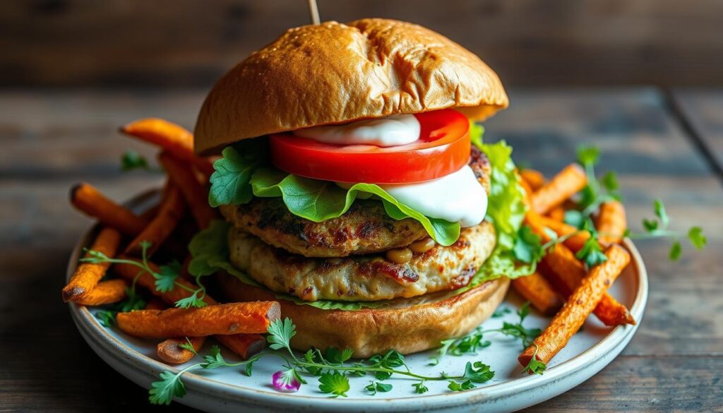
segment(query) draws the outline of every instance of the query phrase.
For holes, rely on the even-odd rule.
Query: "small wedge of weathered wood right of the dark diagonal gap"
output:
[[[723,166],[723,90],[674,90],[675,102],[693,131],[711,150],[718,168]],[[723,176],[721,176],[723,179]]]

